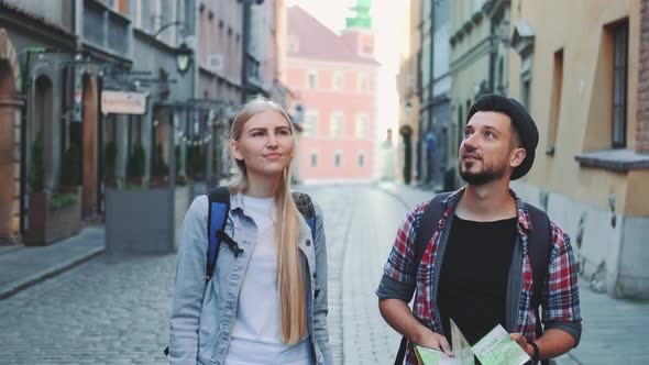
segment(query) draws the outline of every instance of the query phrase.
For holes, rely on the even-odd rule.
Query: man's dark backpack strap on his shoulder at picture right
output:
[[[543,286],[546,285],[548,275],[548,265],[550,265],[552,237],[548,214],[531,204],[526,203],[525,206],[527,207],[529,220],[531,221],[531,230],[527,233],[527,250],[531,264],[534,283],[531,305],[532,310],[537,314],[536,333],[538,338],[543,333],[541,328],[541,317],[539,316],[539,306],[541,303]]]

